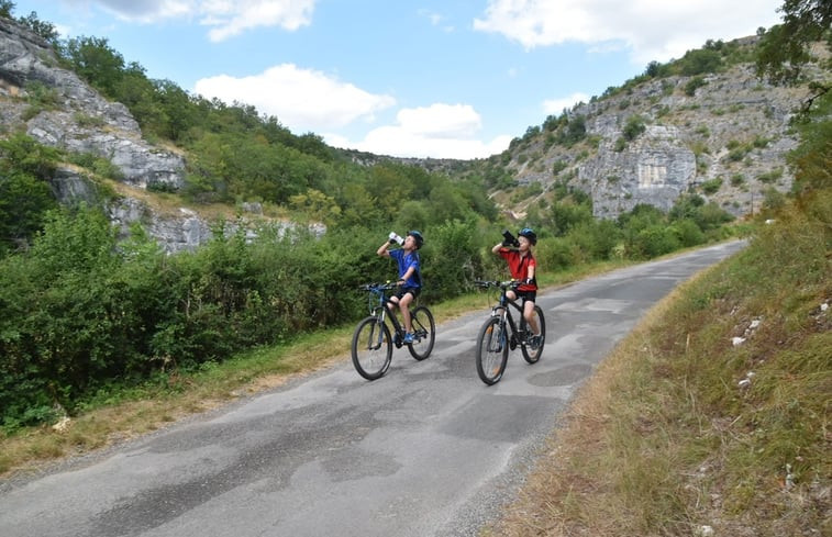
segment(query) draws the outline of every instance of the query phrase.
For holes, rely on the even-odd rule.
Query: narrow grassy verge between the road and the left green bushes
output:
[[[604,262],[542,275],[541,286],[563,284],[618,266]],[[441,323],[490,305],[490,297],[473,293],[431,304],[431,311]],[[65,457],[108,447],[163,428],[190,414],[278,387],[336,360],[348,360],[354,328],[354,324],[350,324],[303,335],[290,345],[255,349],[197,372],[160,376],[157,382],[137,389],[117,387],[66,423],[31,427],[0,438],[0,478],[35,471]]]

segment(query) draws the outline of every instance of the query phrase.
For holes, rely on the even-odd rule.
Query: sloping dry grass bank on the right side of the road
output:
[[[832,535],[831,201],[658,304],[484,535]]]

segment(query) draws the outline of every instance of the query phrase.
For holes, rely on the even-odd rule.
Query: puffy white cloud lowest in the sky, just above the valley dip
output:
[[[328,144],[376,155],[415,158],[486,158],[504,150],[511,136],[497,136],[489,143],[475,138],[480,130],[479,114],[467,104],[432,104],[402,109],[395,125],[374,128],[360,142],[340,135],[324,135]]]

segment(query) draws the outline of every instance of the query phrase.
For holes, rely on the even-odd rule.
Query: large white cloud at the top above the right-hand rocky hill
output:
[[[780,22],[781,0],[490,0],[474,27],[526,49],[566,42],[626,48],[634,64],[681,57],[708,40],[753,35]]]

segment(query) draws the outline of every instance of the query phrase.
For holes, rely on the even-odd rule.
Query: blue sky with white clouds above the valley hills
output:
[[[784,0],[12,0],[62,38],[106,38],[193,96],[293,134],[417,158],[487,158]]]

